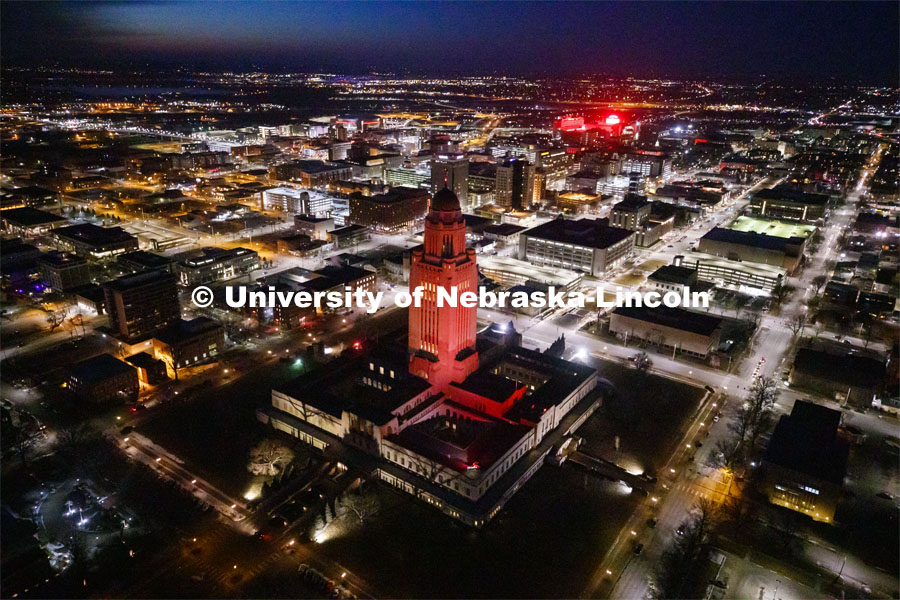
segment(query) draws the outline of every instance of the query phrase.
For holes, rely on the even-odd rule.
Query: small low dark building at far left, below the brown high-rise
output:
[[[69,367],[66,387],[82,400],[96,403],[134,402],[140,393],[135,368],[112,354],[98,354]]]

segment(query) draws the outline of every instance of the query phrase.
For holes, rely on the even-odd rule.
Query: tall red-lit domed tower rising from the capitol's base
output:
[[[421,306],[409,309],[409,370],[440,390],[478,368],[475,306],[438,306],[438,287],[478,293],[475,251],[466,248],[466,222],[459,199],[446,187],[434,195],[425,218],[424,249],[414,250],[409,289],[424,288]]]

